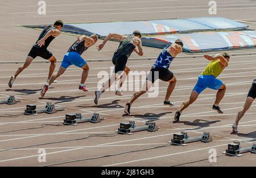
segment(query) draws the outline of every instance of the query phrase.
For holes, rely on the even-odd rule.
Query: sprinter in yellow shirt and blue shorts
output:
[[[216,100],[212,109],[217,110],[218,113],[223,113],[218,106],[220,101],[225,95],[226,92],[226,85],[221,81],[218,80],[218,77],[221,72],[228,67],[230,56],[228,53],[224,52],[222,54],[216,55],[214,57],[209,55],[204,55],[205,59],[211,61],[207,67],[205,67],[204,71],[199,75],[196,86],[191,92],[191,96],[187,101],[184,101],[181,105],[180,109],[175,113],[175,121],[179,122],[180,114],[184,109],[186,109],[189,105],[191,105],[194,101],[196,101],[197,97],[204,89],[210,88],[214,90],[218,90],[216,94]]]

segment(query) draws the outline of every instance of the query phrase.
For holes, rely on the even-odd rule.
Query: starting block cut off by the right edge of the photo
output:
[[[222,153],[231,156],[242,156],[242,154],[246,152],[256,154],[256,144],[254,143],[253,146],[242,148],[240,142],[234,141],[233,143],[229,143],[228,149]]]

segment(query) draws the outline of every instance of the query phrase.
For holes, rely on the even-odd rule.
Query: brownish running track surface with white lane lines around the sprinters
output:
[[[121,20],[147,20],[164,18],[191,18],[210,16],[208,14],[208,1],[82,1],[56,0],[47,2],[47,15],[38,15],[36,1],[3,1],[1,2],[1,28],[0,28],[0,62],[24,61],[32,44],[38,38],[40,31],[16,27],[24,24],[51,24],[56,19],[64,23],[85,22],[111,22]],[[251,29],[256,29],[256,1],[216,1],[217,15],[224,18],[243,20]],[[254,18],[254,19],[253,19]],[[49,45],[60,62],[65,51],[75,41],[75,36],[61,34]],[[99,40],[97,45],[102,41]],[[108,42],[105,48],[98,52],[96,46],[91,47],[82,57],[84,59],[111,59],[118,43]],[[144,56],[152,60],[129,60],[127,65],[131,71],[149,71],[161,49],[143,47]],[[181,54],[171,64],[171,71],[177,77],[177,84],[171,96],[176,106],[164,106],[167,82],[159,81],[159,96],[148,97],[144,94],[134,102],[131,115],[123,115],[125,103],[134,91],[123,91],[119,97],[114,91],[105,92],[97,106],[94,105],[94,90],[100,72],[110,73],[113,64],[110,60],[89,62],[90,72],[85,85],[89,92],[78,89],[81,69],[70,67],[59,78],[57,84],[52,84],[44,98],[40,97],[40,89],[46,83],[49,63],[36,63],[43,60],[37,58],[34,63],[16,78],[13,88],[9,89],[7,83],[16,69],[22,64],[0,64],[0,99],[15,95],[22,102],[16,105],[1,105],[0,115],[22,113],[27,104],[36,104],[43,108],[46,102],[64,106],[65,111],[55,114],[22,115],[15,118],[1,118],[0,132],[8,130],[39,127],[43,123],[57,125],[63,121],[65,114],[82,113],[90,117],[98,112],[105,120],[100,123],[81,123],[78,126],[45,126],[40,129],[22,130],[0,134],[0,166],[43,166],[77,159],[93,158],[119,152],[141,150],[155,146],[164,146],[171,140],[174,133],[187,130],[190,136],[199,136],[208,131],[213,136],[210,143],[189,143],[188,146],[166,146],[152,150],[130,152],[122,155],[83,160],[80,162],[64,163],[59,166],[171,166],[208,159],[209,149],[215,148],[217,155],[225,151],[228,143],[233,140],[249,140],[256,138],[256,104],[242,118],[240,133],[232,134],[232,123],[238,110],[245,102],[251,82],[256,75],[255,50],[230,51],[240,55],[232,56],[228,68],[218,77],[227,86],[226,94],[221,101],[224,114],[212,110],[216,91],[206,89],[200,94],[198,100],[189,106],[180,117],[179,123],[173,123],[175,111],[180,104],[189,97],[197,76],[203,71],[208,61],[201,55]],[[241,54],[243,53],[243,54]],[[251,53],[251,55],[249,55]],[[196,56],[196,57],[195,57]],[[138,57],[135,54],[131,57]],[[56,69],[60,63],[57,63]],[[129,76],[130,77],[130,76]],[[144,80],[144,79],[143,79]],[[143,82],[143,80],[141,82]],[[134,81],[137,82],[138,81]],[[133,86],[133,83],[128,83]],[[138,85],[137,85],[138,86]],[[125,85],[124,88],[127,88]],[[58,142],[67,139],[84,138],[90,134],[114,134],[119,123],[134,119],[138,126],[150,119],[160,126],[159,131],[142,131],[132,135],[116,135],[112,137],[92,137],[88,139],[73,140],[63,143],[44,144],[41,146],[6,150],[9,148],[30,146],[47,142]],[[252,142],[243,142],[242,146],[250,146]],[[39,149],[46,149],[46,162],[38,162]],[[256,165],[254,154],[244,154],[241,157],[221,156],[216,163],[208,160],[184,164],[183,166],[241,166]]]

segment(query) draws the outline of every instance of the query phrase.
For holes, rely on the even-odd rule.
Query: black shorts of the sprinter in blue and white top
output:
[[[156,80],[170,81],[174,78],[174,73],[167,68],[152,67],[150,73],[147,75],[147,80],[154,83]]]

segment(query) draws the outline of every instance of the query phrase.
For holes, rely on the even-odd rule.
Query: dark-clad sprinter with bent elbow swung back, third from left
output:
[[[120,81],[117,90],[115,91],[115,94],[118,96],[122,96],[121,93],[121,87],[123,82],[126,79],[126,76],[129,74],[129,67],[127,67],[126,63],[128,58],[130,57],[131,53],[134,51],[139,56],[143,55],[142,51],[142,43],[141,43],[141,32],[138,30],[133,32],[133,35],[119,35],[119,34],[109,34],[102,44],[98,45],[98,51],[100,51],[106,42],[108,42],[109,39],[117,39],[120,41],[118,49],[114,52],[114,56],[112,58],[112,63],[115,65],[115,70],[113,75],[109,78],[108,81],[105,82],[104,86],[101,88],[101,90],[97,90],[95,92],[95,99],[94,103],[98,104],[98,99],[100,98],[101,94],[105,92],[106,89],[108,89],[115,80],[120,76]],[[138,46],[138,51],[136,47]],[[122,74],[121,74],[122,73]]]

